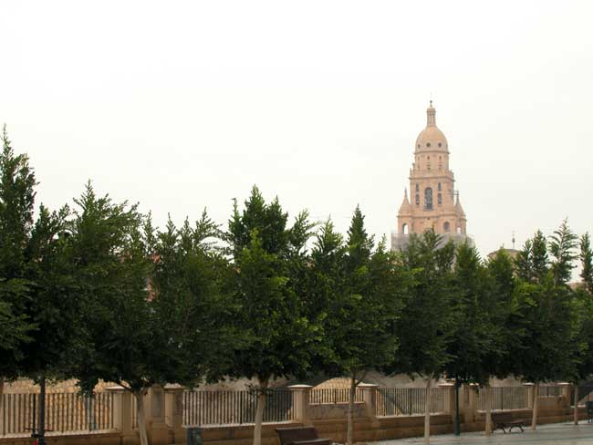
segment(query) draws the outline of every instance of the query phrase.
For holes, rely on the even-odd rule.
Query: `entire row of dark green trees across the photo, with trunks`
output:
[[[343,237],[307,212],[289,223],[254,187],[226,230],[206,212],[158,230],[90,184],[72,207],[36,212],[28,159],[5,132],[3,146],[0,395],[19,376],[78,378],[85,391],[116,382],[137,399],[146,445],[142,396],[152,385],[253,378],[259,445],[276,378],[341,376],[351,444],[369,370],[426,378],[427,388],[443,376],[487,387],[508,375],[537,388],[593,371],[593,253],[566,223],[549,239],[537,232],[516,261],[501,251],[484,262],[432,232],[393,253],[358,207]],[[577,257],[584,285],[573,290]]]

